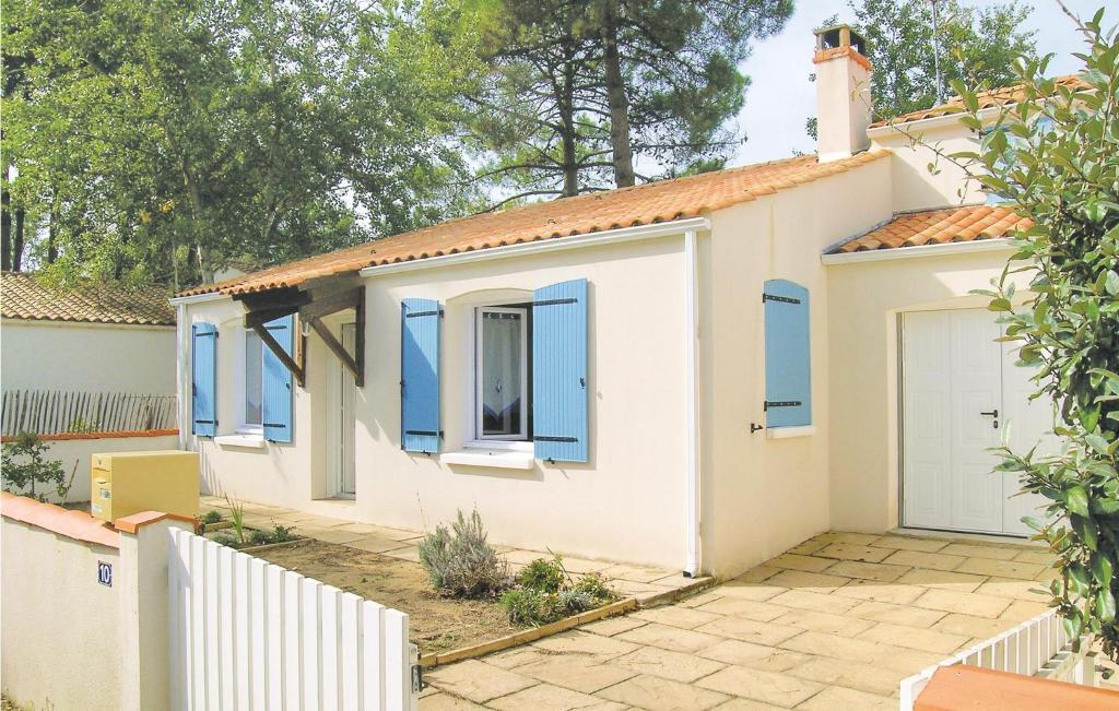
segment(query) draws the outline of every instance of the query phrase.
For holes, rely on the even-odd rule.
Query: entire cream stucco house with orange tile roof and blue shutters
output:
[[[986,448],[1051,418],[969,295],[1019,220],[903,132],[971,142],[958,107],[872,125],[861,49],[819,37],[818,157],[181,294],[181,444],[204,486],[414,529],[477,506],[496,542],[688,575],[828,529],[1022,534],[1033,502]]]

